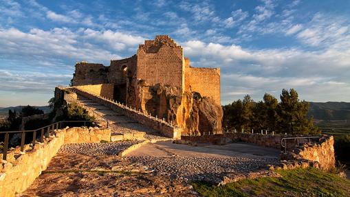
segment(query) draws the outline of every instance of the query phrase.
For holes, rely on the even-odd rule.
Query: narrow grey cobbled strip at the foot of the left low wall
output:
[[[109,143],[69,143],[61,147],[59,152],[84,154],[88,156],[118,155],[123,150],[140,141],[122,141]]]

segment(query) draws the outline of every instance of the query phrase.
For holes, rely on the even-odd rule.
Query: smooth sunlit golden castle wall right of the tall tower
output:
[[[189,67],[187,70],[185,86],[202,97],[212,97],[220,105],[220,69]]]

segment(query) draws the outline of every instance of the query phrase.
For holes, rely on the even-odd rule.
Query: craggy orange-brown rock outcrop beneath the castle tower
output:
[[[211,97],[164,84],[139,84],[140,106],[153,117],[182,128],[183,135],[221,133],[221,106]]]

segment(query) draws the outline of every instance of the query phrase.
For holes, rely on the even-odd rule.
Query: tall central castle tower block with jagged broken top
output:
[[[137,78],[147,84],[162,83],[182,89],[183,50],[169,38],[156,36],[155,40],[145,40],[138,49]]]

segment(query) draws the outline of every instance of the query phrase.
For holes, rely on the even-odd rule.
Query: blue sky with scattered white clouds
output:
[[[294,88],[350,102],[350,1],[0,0],[0,106],[45,105],[75,62],[169,34],[193,67],[221,68],[221,104]]]

